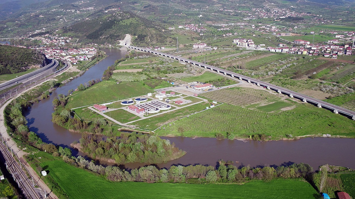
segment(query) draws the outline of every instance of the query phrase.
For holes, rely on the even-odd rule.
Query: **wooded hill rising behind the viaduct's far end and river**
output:
[[[162,27],[148,19],[143,19],[129,12],[116,12],[93,20],[78,22],[64,29],[64,32],[74,32],[85,39],[97,43],[114,42],[124,39],[125,34],[137,36],[134,41],[141,44],[156,44],[163,42],[165,36]]]

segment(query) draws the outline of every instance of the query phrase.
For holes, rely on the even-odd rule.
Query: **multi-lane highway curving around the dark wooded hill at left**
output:
[[[49,64],[47,64],[46,66],[44,66],[38,70],[35,70],[31,73],[19,76],[18,78],[15,78],[15,79],[12,79],[12,80],[6,81],[5,83],[0,84],[0,90],[6,89],[8,87],[22,83],[24,81],[28,81],[32,77],[47,73],[48,71],[55,72],[58,65],[59,65],[59,62],[56,59],[52,59]]]

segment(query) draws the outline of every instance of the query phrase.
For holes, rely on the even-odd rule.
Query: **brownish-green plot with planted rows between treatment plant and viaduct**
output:
[[[272,95],[266,91],[243,87],[206,92],[201,96],[237,106],[247,106],[265,100],[277,99],[275,95]]]

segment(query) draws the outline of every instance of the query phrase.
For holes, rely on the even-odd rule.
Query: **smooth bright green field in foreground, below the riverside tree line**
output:
[[[41,178],[59,198],[314,198],[315,189],[300,180],[253,181],[238,184],[186,184],[110,182],[56,159],[47,153],[34,155],[48,170]],[[41,159],[38,159],[41,157]],[[33,165],[32,165],[33,166]],[[35,168],[34,168],[35,169]],[[78,191],[79,190],[79,191]]]

